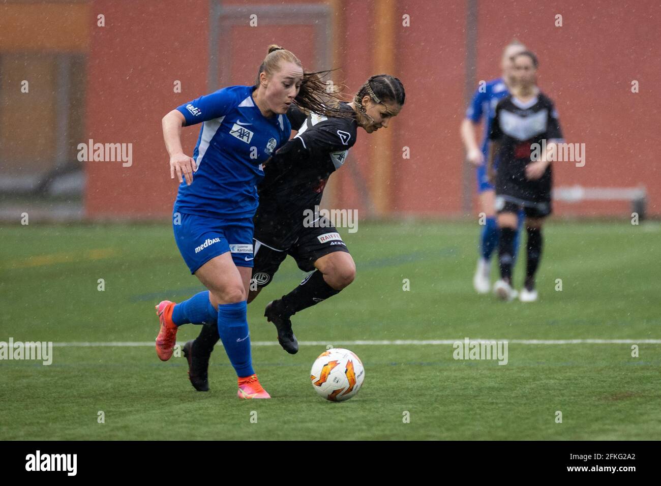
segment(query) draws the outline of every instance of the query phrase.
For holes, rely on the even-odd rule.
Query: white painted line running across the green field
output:
[[[507,341],[510,344],[661,344],[661,339],[469,339],[471,343]],[[408,340],[397,341],[299,341],[303,346],[438,346],[444,344],[463,343],[460,339],[428,339],[428,340]],[[183,343],[178,343],[183,344]],[[219,343],[219,345],[221,345]],[[253,346],[280,346],[278,341],[253,341]],[[100,347],[147,347],[154,346],[153,341],[115,341],[108,343],[53,343],[54,347],[59,348],[100,348]]]

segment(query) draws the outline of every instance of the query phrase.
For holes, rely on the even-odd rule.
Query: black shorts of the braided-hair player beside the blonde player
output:
[[[315,261],[324,255],[336,251],[349,253],[340,233],[333,226],[303,227],[298,239],[288,249],[276,248],[268,242],[259,241],[257,236],[253,239],[254,261],[251,284],[254,283],[259,288],[271,283],[287,255],[293,257],[298,268],[303,272],[311,272],[315,270]]]

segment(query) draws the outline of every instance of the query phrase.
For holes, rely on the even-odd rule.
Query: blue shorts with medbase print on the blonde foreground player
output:
[[[178,223],[178,224],[177,224]],[[236,266],[253,266],[253,218],[221,220],[175,212],[176,246],[190,273],[212,258],[232,252]]]

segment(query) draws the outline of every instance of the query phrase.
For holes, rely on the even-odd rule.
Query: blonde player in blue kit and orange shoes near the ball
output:
[[[156,306],[156,352],[169,360],[179,325],[217,312],[218,332],[238,377],[239,398],[270,398],[254,374],[247,321],[253,266],[253,216],[264,163],[290,138],[293,104],[333,116],[319,73],[304,73],[292,52],[270,46],[254,86],[232,86],[182,104],[163,118],[170,175],[180,182],[173,210],[176,244],[209,292]],[[193,157],[184,154],[182,126],[202,123]]]

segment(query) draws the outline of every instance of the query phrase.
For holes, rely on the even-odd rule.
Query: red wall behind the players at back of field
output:
[[[459,124],[465,111],[466,5],[456,1],[393,1],[396,24],[375,19],[377,0],[332,0],[337,77],[353,91],[376,73],[375,30],[396,38],[395,71],[407,89],[403,112],[391,125],[389,211],[395,214],[461,214],[463,151]],[[245,4],[242,1],[225,5]],[[260,1],[282,5],[280,1]],[[314,2],[311,2],[314,3]],[[650,213],[661,215],[661,177],[654,135],[661,100],[661,9],[654,0],[629,5],[571,0],[549,7],[536,0],[480,1],[477,69],[480,79],[500,73],[500,53],[512,37],[537,52],[539,83],[557,103],[567,142],[586,143],[586,166],[557,163],[556,183],[584,186],[637,186],[650,194]],[[246,3],[247,4],[247,3]],[[288,5],[291,5],[288,3]],[[103,13],[106,26],[96,27]],[[165,217],[176,184],[169,178],[161,118],[178,104],[206,93],[208,69],[207,0],[116,2],[95,0],[90,19],[87,132],[95,142],[133,143],[132,167],[87,163],[85,206],[92,218]],[[410,27],[401,16],[410,15]],[[554,16],[563,15],[563,27]],[[246,20],[246,23],[248,19]],[[251,83],[266,47],[282,44],[311,65],[315,52],[309,26],[233,28],[233,52],[218,46],[230,63],[234,83]],[[330,66],[329,66],[330,67]],[[631,81],[640,93],[631,93]],[[180,80],[182,93],[173,93]],[[192,153],[198,128],[184,129],[184,151]],[[374,161],[371,145],[387,134],[359,132],[350,163],[369,187]],[[653,133],[654,132],[654,133]],[[401,148],[410,147],[410,159]],[[362,206],[360,184],[348,167],[333,176],[335,205]],[[475,183],[471,178],[471,190]],[[476,206],[477,207],[477,206]],[[556,205],[558,214],[626,214],[625,203]]]

